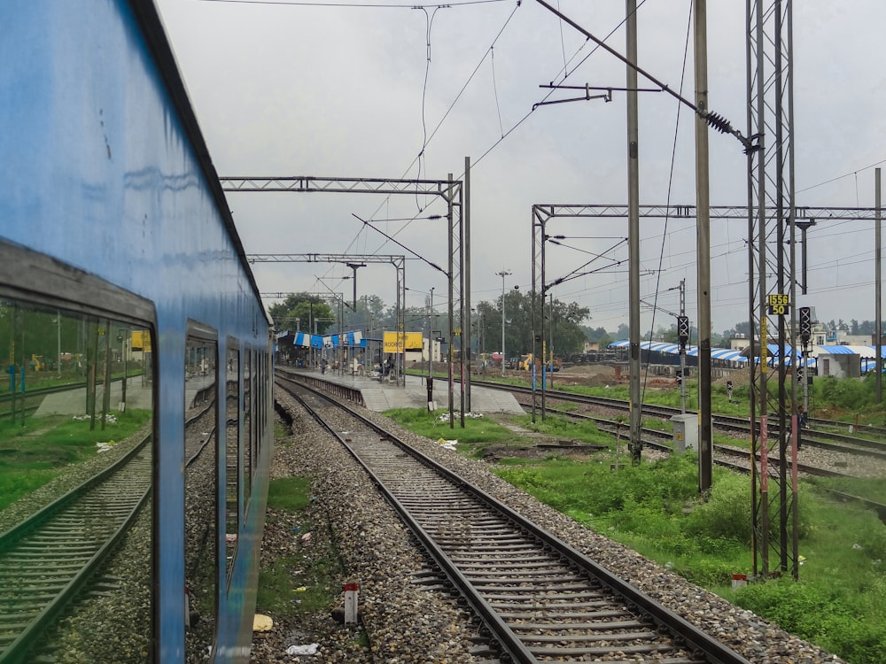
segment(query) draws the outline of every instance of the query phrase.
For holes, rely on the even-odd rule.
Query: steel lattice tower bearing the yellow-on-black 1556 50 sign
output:
[[[796,577],[797,475],[789,475],[796,464],[789,467],[787,436],[797,396],[788,376],[797,320],[791,23],[790,0],[747,0],[748,135],[757,142],[748,150],[754,574],[790,570]],[[767,367],[770,338],[778,354]]]

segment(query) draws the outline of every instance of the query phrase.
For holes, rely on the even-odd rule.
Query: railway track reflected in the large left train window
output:
[[[145,436],[113,466],[0,536],[0,663],[22,661],[126,534],[150,495],[151,441]]]

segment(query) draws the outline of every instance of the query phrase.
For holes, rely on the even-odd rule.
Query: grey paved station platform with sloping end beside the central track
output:
[[[309,376],[314,380],[334,382],[354,390],[360,390],[363,404],[370,411],[382,413],[392,408],[426,408],[428,405],[428,390],[426,376],[405,375],[405,384],[398,385],[395,382],[379,382],[377,378],[369,378],[360,375],[337,374],[327,371],[321,374],[315,369],[296,369],[293,367],[277,367],[285,372],[295,375]],[[455,410],[462,409],[461,386],[455,383],[453,388],[453,403]],[[449,388],[444,378],[434,379],[434,402],[437,410],[446,411],[449,408]],[[523,407],[517,403],[514,395],[503,390],[489,390],[488,388],[470,386],[470,410],[473,413],[512,413],[522,415]]]

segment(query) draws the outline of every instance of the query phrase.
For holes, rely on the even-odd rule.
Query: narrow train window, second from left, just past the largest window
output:
[[[185,661],[206,661],[218,602],[218,343],[190,322],[184,356]]]

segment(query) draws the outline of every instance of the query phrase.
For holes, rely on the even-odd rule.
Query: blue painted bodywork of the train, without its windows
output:
[[[260,390],[269,398],[268,318],[152,4],[4,2],[0,60],[0,243],[94,275],[149,301],[156,313],[156,624],[150,658],[184,661],[183,358],[189,321],[214,332],[222,367],[231,350],[241,358],[256,353],[249,366],[262,376]],[[53,296],[41,283],[12,286],[19,295],[31,289]],[[244,364],[237,368],[241,385],[248,378]],[[216,387],[219,403],[224,383]],[[244,400],[241,393],[241,409]],[[271,430],[266,405],[253,412],[253,419],[263,419],[262,443]],[[245,424],[240,427],[248,438]],[[226,432],[218,436],[223,496],[230,480]],[[218,572],[216,661],[242,660],[251,638],[271,449],[255,447],[239,481],[237,554],[230,569],[222,560]],[[248,453],[240,452],[241,462]],[[217,506],[223,522],[224,498]],[[223,524],[215,537],[223,559]]]

